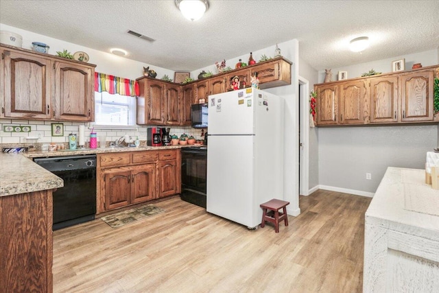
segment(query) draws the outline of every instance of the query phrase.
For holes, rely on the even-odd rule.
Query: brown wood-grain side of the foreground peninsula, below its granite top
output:
[[[52,191],[0,197],[0,292],[53,292]]]

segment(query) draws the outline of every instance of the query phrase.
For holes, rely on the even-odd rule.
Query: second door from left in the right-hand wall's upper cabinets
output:
[[[363,124],[364,104],[367,104],[366,80],[340,84],[340,123]]]

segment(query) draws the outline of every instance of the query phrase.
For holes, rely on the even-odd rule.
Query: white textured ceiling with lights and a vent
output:
[[[215,1],[187,21],[174,1],[0,0],[0,23],[171,70],[193,71],[297,38],[314,69],[439,46],[439,1]],[[156,41],[127,34],[139,32]],[[362,54],[349,40],[369,36]],[[282,48],[281,48],[282,49]]]

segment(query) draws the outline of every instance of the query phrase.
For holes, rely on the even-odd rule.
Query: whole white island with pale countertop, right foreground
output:
[[[438,292],[439,191],[388,167],[366,211],[364,292]]]

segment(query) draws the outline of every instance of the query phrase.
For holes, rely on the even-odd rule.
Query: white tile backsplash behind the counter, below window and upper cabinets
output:
[[[62,137],[52,137],[51,124],[63,124],[64,135]],[[26,146],[27,144],[40,144],[40,143],[68,143],[70,133],[79,133],[79,126],[84,125],[85,140],[86,143],[90,141],[91,126],[93,123],[89,122],[69,122],[69,121],[36,121],[36,120],[17,120],[17,119],[0,119],[0,144],[10,146]],[[7,132],[4,126],[29,126],[30,132]],[[147,128],[153,126],[137,125],[130,127],[129,130],[123,129],[99,129],[95,128],[97,137],[105,135],[106,141],[115,141],[124,135],[130,137],[139,137],[141,141],[147,139]],[[161,127],[161,126],[158,126]],[[186,133],[193,135],[195,139],[204,139],[201,136],[202,130],[191,128],[191,126],[168,126],[171,128],[170,134],[176,134],[180,137],[181,134]],[[167,128],[168,128],[167,127]],[[36,139],[34,139],[36,138]],[[24,145],[23,145],[24,144]]]

